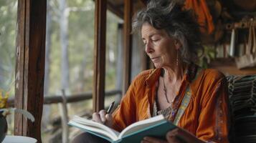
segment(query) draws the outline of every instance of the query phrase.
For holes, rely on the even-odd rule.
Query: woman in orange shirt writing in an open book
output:
[[[141,142],[228,142],[226,80],[219,71],[194,64],[202,45],[191,12],[174,1],[151,0],[136,15],[133,31],[141,35],[156,69],[138,74],[112,115],[102,110],[93,120],[121,131],[163,114],[181,128],[168,132],[166,140]]]

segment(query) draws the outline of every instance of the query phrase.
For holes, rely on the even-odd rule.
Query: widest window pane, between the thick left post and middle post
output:
[[[67,97],[92,92],[94,9],[91,0],[47,1],[44,97],[61,96],[62,89]],[[68,104],[68,116],[91,113],[92,103]],[[57,104],[44,105],[43,142],[61,141],[60,110]]]

